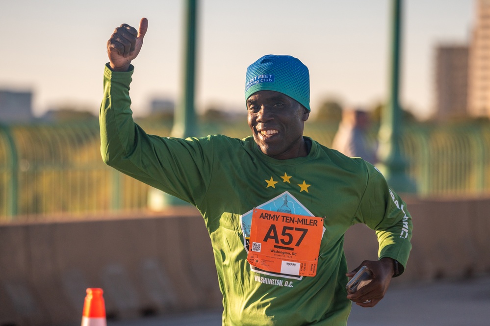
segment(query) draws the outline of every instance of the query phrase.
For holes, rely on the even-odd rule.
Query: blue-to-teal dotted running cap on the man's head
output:
[[[264,55],[247,68],[245,100],[258,91],[276,91],[309,108],[309,71],[290,55]]]

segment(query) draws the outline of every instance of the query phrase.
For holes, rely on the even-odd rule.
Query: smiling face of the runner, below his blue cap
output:
[[[306,156],[303,128],[309,111],[283,93],[259,91],[247,99],[247,121],[262,152],[276,159]]]

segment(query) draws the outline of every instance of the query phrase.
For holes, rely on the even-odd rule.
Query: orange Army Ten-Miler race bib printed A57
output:
[[[247,260],[259,269],[315,276],[323,218],[254,208]]]

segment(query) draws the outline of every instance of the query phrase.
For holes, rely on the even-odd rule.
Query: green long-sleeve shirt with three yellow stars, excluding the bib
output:
[[[103,160],[202,213],[224,297],[223,325],[345,325],[351,303],[343,241],[356,223],[376,231],[380,258],[406,266],[412,219],[371,164],[310,139],[306,157],[277,160],[263,154],[252,137],[148,135],[131,116],[131,75],[104,72]],[[254,207],[325,217],[316,276],[271,273],[249,264]]]

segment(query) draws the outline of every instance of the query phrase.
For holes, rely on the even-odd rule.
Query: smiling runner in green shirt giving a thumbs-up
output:
[[[211,237],[223,325],[346,325],[351,303],[373,307],[411,249],[405,203],[362,159],[303,136],[309,72],[298,59],[267,55],[247,70],[245,99],[253,137],[163,138],[131,117],[129,83],[148,28],[123,24],[107,43],[101,151],[119,171],[195,205]],[[343,236],[376,230],[374,275],[347,295]]]

